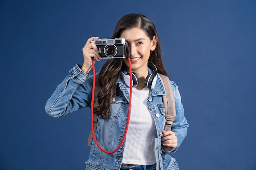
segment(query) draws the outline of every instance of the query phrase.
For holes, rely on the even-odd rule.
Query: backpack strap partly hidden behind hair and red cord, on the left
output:
[[[94,105],[98,104],[98,96],[97,95],[100,90],[101,90],[101,87],[99,86],[99,81],[98,81],[98,78],[96,77],[95,89],[94,89]],[[91,108],[91,109],[93,109],[93,108]],[[93,114],[93,129],[94,129],[94,131],[97,128],[98,117],[99,117],[98,115]],[[87,143],[87,145],[89,147],[92,146],[92,139],[93,139],[93,136],[92,136],[92,130],[91,130],[89,137],[88,137],[88,143]]]

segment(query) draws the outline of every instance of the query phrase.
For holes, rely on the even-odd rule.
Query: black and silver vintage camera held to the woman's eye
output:
[[[92,40],[99,49],[99,55],[105,59],[125,58],[127,43],[124,38]]]

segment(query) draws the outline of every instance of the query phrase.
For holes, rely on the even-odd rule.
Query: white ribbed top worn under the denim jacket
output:
[[[155,121],[146,106],[149,93],[149,89],[146,88],[141,91],[132,88],[130,123],[122,163],[137,165],[156,163],[154,141],[157,131]]]

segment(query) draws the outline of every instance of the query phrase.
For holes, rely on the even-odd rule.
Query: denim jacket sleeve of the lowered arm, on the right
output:
[[[177,147],[174,148],[171,152],[176,152],[180,147],[180,144],[182,144],[184,138],[187,136],[187,129],[189,127],[189,124],[187,123],[186,118],[184,116],[184,108],[181,102],[181,96],[178,90],[178,86],[174,82],[171,82],[171,84],[173,88],[176,109],[176,118],[173,121],[171,130],[175,133],[178,141]]]

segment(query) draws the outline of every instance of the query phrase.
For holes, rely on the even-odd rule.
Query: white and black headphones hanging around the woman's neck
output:
[[[150,61],[148,61],[148,68],[153,70],[153,74],[148,74],[145,80],[145,88],[151,89],[155,87],[155,84],[157,82],[157,67]],[[121,73],[125,84],[130,87],[130,76],[129,73],[125,74],[124,70],[122,70]],[[136,87],[139,84],[139,77],[136,75],[136,73],[132,72],[132,87]]]

